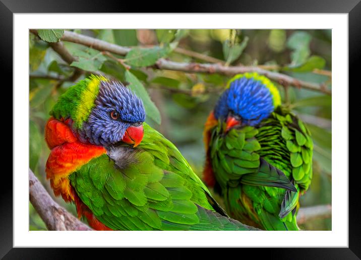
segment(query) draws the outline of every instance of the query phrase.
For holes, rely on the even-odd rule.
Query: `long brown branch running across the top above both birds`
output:
[[[37,33],[36,30],[31,30],[31,32],[35,34]],[[70,31],[65,31],[61,40],[79,43],[91,47],[93,49],[97,49],[99,51],[109,51],[118,55],[126,55],[131,50],[131,48],[128,47],[123,47],[116,44],[108,43],[106,41],[102,41],[99,39],[95,39],[93,37],[85,36]],[[312,82],[297,80],[285,74],[270,72],[255,66],[226,67],[218,63],[216,64],[182,63],[182,62],[175,62],[175,61],[166,60],[164,58],[160,58],[156,62],[155,68],[160,70],[180,71],[187,73],[208,73],[208,74],[218,73],[228,76],[232,76],[238,73],[257,72],[282,85],[289,85],[297,88],[310,89],[331,95],[331,91],[328,90],[324,84],[316,84]]]

